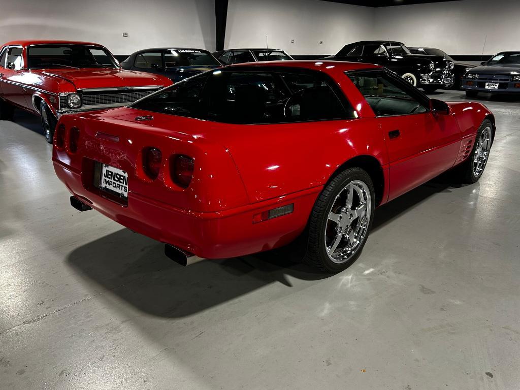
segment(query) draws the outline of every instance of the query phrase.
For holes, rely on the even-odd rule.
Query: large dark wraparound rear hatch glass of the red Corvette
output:
[[[168,87],[133,107],[224,123],[354,118],[319,74],[217,70]]]

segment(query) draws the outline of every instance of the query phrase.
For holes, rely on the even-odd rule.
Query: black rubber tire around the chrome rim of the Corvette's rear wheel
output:
[[[332,261],[327,250],[326,229],[328,228],[329,212],[332,211],[332,207],[334,207],[335,202],[341,203],[341,200],[337,197],[340,196],[341,193],[343,193],[347,185],[353,185],[353,183],[363,183],[366,185],[366,189],[368,189],[368,192],[370,193],[370,200],[366,200],[366,202],[370,204],[370,214],[368,218],[367,216],[365,216],[363,218],[359,217],[352,219],[352,224],[354,224],[354,221],[356,221],[356,224],[362,223],[362,226],[365,227],[363,228],[365,233],[361,240],[357,241],[358,243],[355,251],[351,255],[349,255],[348,258],[345,258],[344,262],[338,263]],[[348,168],[345,171],[336,175],[321,192],[320,196],[316,200],[316,203],[314,204],[314,209],[310,215],[307,233],[307,253],[304,259],[305,263],[319,269],[322,272],[335,273],[348,268],[359,257],[363,249],[363,246],[365,246],[365,243],[367,242],[370,227],[372,226],[372,220],[374,217],[374,209],[374,186],[372,183],[372,179],[366,171],[362,170],[361,168],[354,167]],[[347,214],[348,212],[345,215]],[[352,214],[350,214],[350,216],[352,216]],[[340,224],[337,224],[336,231],[354,231],[354,227],[352,228],[352,230],[337,230],[339,226]],[[359,225],[356,225],[356,228],[358,226]],[[351,228],[348,227],[348,229]],[[337,233],[337,236],[342,237],[342,235],[339,233]],[[340,240],[343,240],[343,238],[341,238]]]

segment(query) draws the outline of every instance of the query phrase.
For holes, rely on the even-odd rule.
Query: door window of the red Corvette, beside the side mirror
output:
[[[375,115],[406,115],[426,112],[424,98],[413,87],[394,80],[384,71],[347,74],[370,105]],[[405,82],[404,82],[405,83]]]

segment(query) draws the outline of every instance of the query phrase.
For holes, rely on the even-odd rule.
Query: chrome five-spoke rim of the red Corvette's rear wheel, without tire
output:
[[[332,262],[347,262],[361,248],[368,232],[372,199],[366,183],[354,180],[337,194],[328,212],[324,240]]]

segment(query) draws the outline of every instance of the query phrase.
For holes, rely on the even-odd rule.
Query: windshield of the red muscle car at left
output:
[[[110,51],[91,45],[34,45],[28,48],[29,69],[119,68]]]

